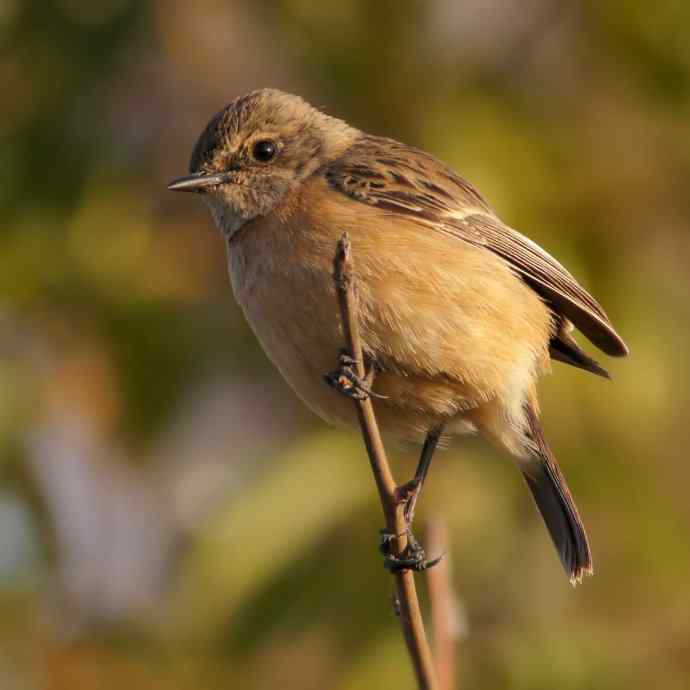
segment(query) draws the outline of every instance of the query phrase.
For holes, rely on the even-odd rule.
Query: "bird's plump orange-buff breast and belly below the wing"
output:
[[[351,401],[323,382],[344,346],[331,278],[344,231],[365,349],[384,369],[375,385],[387,396],[375,403],[384,431],[417,440],[450,422],[451,431],[478,426],[491,437],[506,417],[521,418],[548,368],[551,319],[536,293],[490,252],[364,206],[318,177],[228,242],[235,297],[304,402],[329,421],[356,422]]]

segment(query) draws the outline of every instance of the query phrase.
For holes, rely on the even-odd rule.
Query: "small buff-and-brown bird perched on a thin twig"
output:
[[[323,383],[344,343],[332,262],[347,231],[364,351],[385,396],[376,414],[384,432],[424,441],[419,487],[442,433],[479,432],[517,461],[570,580],[592,572],[536,382],[551,359],[608,376],[574,326],[608,355],[628,349],[561,264],[433,156],[276,90],[215,115],[190,175],[169,188],[203,195],[235,297],[288,383],[322,418],[355,425],[351,401]]]

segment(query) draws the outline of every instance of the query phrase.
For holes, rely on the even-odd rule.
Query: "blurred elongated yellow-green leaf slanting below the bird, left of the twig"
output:
[[[182,569],[176,632],[203,634],[231,619],[286,561],[371,499],[375,489],[360,444],[335,432],[300,441],[216,516]]]

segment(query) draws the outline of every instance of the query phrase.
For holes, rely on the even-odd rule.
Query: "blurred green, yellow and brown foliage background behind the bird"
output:
[[[632,350],[541,387],[582,587],[508,462],[437,459],[417,531],[448,525],[457,687],[687,688],[688,26],[679,0],[0,0],[0,687],[413,687],[361,440],[298,404],[165,189],[274,86],[461,171]]]

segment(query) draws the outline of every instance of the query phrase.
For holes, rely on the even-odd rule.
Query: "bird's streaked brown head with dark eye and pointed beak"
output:
[[[228,235],[270,213],[359,135],[299,96],[253,91],[217,113],[199,137],[189,175],[168,189],[197,192]]]

